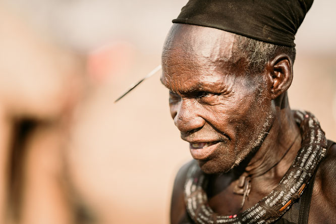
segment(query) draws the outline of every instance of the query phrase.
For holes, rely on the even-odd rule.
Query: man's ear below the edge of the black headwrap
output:
[[[286,53],[276,55],[267,65],[271,99],[288,90],[293,80],[293,63]]]

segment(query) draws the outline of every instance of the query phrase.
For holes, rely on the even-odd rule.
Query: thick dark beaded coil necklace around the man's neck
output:
[[[207,204],[208,177],[197,164],[190,167],[184,195],[187,212],[196,223],[272,223],[292,206],[326,154],[326,138],[317,119],[306,111],[298,110],[294,112],[294,118],[300,126],[302,144],[291,167],[266,197],[239,214],[216,214]]]

